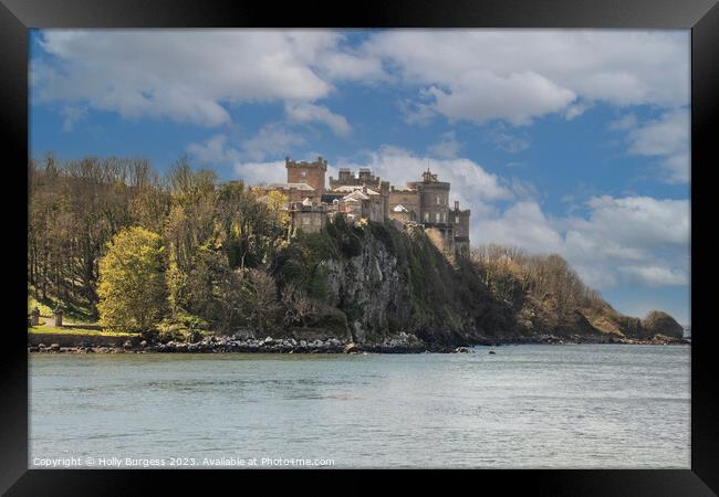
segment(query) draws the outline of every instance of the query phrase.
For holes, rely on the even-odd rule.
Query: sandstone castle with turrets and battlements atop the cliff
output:
[[[470,210],[461,210],[456,201],[449,207],[450,183],[439,181],[429,169],[419,181],[408,181],[405,187],[390,186],[373,176],[369,169],[358,175],[340,169],[338,178],[330,177],[325,188],[327,161],[319,157],[314,162],[284,161],[288,171],[285,183],[270,183],[264,191],[278,191],[288,197],[293,231],[320,231],[327,218],[336,213],[347,220],[392,223],[398,229],[414,224],[424,228],[440,248],[459,256],[469,253]]]

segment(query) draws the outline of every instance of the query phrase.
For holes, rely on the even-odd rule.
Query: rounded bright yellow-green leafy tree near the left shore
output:
[[[100,324],[145,331],[163,317],[165,257],[160,236],[144,228],[117,233],[100,260]]]

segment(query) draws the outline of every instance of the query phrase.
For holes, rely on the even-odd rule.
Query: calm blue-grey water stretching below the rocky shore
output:
[[[688,346],[497,355],[31,355],[35,457],[690,466]]]

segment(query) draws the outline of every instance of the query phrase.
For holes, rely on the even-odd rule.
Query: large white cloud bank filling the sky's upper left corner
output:
[[[313,102],[332,83],[315,66],[342,36],[324,30],[46,30],[33,64],[39,102],[218,126],[227,106]]]

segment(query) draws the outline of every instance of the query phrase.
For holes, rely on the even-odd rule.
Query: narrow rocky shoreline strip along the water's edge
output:
[[[414,337],[413,337],[414,338]],[[147,343],[126,340],[124,343],[76,343],[61,346],[59,342],[29,345],[29,353],[473,353],[472,347],[502,347],[509,345],[643,345],[643,346],[690,346],[684,338],[655,336],[649,339],[614,338],[596,340],[582,336],[517,337],[504,339],[481,339],[457,345],[425,343],[407,337],[389,338],[383,342],[354,343],[336,338],[325,340],[295,340],[294,338],[233,339],[210,337],[201,341]]]

